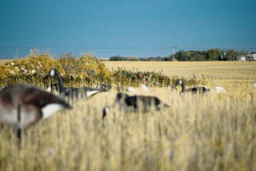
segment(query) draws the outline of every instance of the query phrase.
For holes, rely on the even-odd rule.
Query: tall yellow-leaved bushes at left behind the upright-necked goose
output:
[[[12,80],[22,83],[39,83],[41,78],[49,73],[52,68],[56,68],[64,78],[64,83],[78,86],[83,83],[96,83],[97,81],[110,80],[111,73],[97,58],[90,54],[85,54],[81,58],[64,57],[52,58],[49,53],[38,53],[32,51],[29,56],[22,59],[14,59],[0,66],[1,84],[11,83]],[[89,73],[89,69],[93,73]],[[102,78],[104,76],[104,78]],[[101,80],[99,80],[101,78]],[[72,80],[73,79],[73,80]]]

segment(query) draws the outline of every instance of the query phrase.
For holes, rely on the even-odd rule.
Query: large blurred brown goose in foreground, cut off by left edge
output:
[[[57,110],[71,108],[63,100],[33,86],[9,86],[0,91],[0,125],[14,128],[18,138],[21,130],[48,118]]]

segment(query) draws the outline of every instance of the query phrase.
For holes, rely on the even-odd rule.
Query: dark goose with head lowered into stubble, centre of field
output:
[[[112,106],[118,105],[119,110],[124,110],[124,112],[137,113],[142,111],[144,113],[149,112],[152,107],[156,110],[161,108],[169,108],[169,105],[162,103],[159,98],[147,95],[132,95],[129,96],[126,93],[118,93],[117,98]],[[109,113],[109,106],[103,109],[102,118],[104,119]]]

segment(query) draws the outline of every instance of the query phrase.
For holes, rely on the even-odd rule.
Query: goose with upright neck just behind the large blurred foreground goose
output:
[[[79,97],[89,97],[92,95],[95,95],[96,93],[100,93],[102,91],[107,91],[111,88],[110,85],[108,86],[104,86],[104,88],[101,89],[97,89],[97,88],[90,88],[90,87],[75,87],[75,88],[65,88],[61,75],[59,73],[59,71],[57,71],[56,69],[51,69],[51,71],[49,71],[49,75],[48,76],[56,76],[58,78],[59,81],[59,96],[61,99],[65,99],[65,98],[79,98]]]

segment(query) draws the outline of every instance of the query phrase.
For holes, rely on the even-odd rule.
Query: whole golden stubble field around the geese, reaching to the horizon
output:
[[[170,108],[124,113],[111,108],[117,89],[72,103],[29,128],[19,143],[0,129],[0,170],[256,170],[255,62],[104,62],[170,78],[204,79],[207,95],[149,87]],[[227,93],[215,93],[222,86]],[[129,93],[131,94],[131,93]]]

